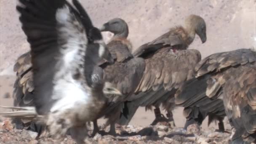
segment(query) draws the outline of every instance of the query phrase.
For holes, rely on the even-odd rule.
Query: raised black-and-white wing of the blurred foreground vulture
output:
[[[86,93],[81,80],[88,38],[80,16],[65,0],[19,0],[22,29],[31,47],[35,105],[39,114],[69,107]],[[75,93],[75,94],[74,94]],[[74,95],[72,99],[70,95]],[[53,103],[69,99],[65,103]]]

